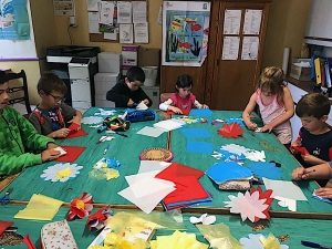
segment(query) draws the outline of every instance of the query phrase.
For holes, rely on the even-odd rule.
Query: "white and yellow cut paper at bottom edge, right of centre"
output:
[[[289,248],[287,245],[280,245],[278,239],[271,234],[268,238],[261,234],[249,234],[248,237],[240,238],[239,241],[243,246],[243,249]]]

